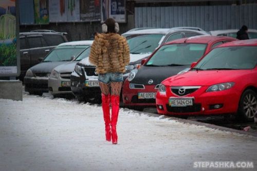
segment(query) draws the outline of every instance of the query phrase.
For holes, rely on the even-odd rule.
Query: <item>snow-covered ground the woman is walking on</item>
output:
[[[254,137],[159,115],[121,109],[117,132],[117,145],[105,141],[100,105],[27,94],[23,101],[0,99],[0,170],[177,171],[204,170],[193,168],[195,161],[257,163]]]

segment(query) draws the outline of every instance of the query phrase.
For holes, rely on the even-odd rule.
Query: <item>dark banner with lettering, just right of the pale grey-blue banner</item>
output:
[[[94,22],[101,20],[101,0],[80,0],[80,20]]]

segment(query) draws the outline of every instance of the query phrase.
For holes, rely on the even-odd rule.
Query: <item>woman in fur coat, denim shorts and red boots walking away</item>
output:
[[[96,72],[98,73],[106,140],[111,141],[112,139],[113,144],[117,144],[116,124],[119,114],[120,91],[125,66],[130,62],[130,49],[126,38],[117,34],[119,25],[113,18],[105,20],[102,25],[102,32],[95,35],[89,61],[96,66]],[[110,101],[112,105],[111,118]]]

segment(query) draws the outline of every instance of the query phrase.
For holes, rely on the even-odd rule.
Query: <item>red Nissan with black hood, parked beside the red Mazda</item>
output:
[[[155,96],[162,80],[188,71],[192,62],[207,54],[214,47],[237,40],[222,36],[194,36],[168,42],[158,48],[140,67],[131,71],[122,87],[125,106],[142,110],[155,106]]]

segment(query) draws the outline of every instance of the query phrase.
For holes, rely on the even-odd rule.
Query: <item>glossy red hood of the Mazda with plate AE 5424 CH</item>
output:
[[[251,70],[189,71],[169,77],[162,83],[166,86],[212,86],[223,82],[233,82]]]

